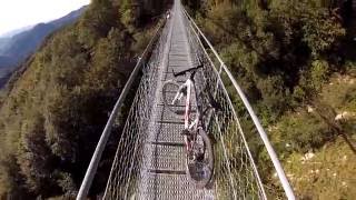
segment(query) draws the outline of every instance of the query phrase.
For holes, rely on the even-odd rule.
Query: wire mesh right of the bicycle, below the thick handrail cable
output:
[[[209,124],[207,124],[208,133],[212,134],[215,141],[214,189],[216,198],[266,199],[246,142],[247,130],[241,128],[234,103],[221,80],[222,69],[220,66],[215,66],[189,23],[189,19],[185,18],[192,58],[199,58],[204,63],[202,79],[197,82],[198,90],[211,93],[219,104],[219,110],[210,116]],[[208,103],[208,101],[201,102]],[[251,133],[250,130],[248,131]]]

